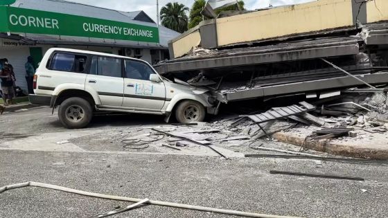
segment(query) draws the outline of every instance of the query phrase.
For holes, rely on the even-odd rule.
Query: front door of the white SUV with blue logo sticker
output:
[[[166,101],[164,82],[150,81],[155,74],[149,64],[138,60],[124,60],[124,100],[123,107],[138,110],[160,110]]]

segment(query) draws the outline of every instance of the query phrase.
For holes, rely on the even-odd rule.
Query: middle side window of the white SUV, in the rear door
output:
[[[122,78],[121,59],[94,56],[91,59],[90,74]]]

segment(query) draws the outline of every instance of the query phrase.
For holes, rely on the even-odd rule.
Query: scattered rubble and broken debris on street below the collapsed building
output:
[[[387,159],[388,154],[373,152],[373,146],[377,145],[376,149],[380,149],[378,146],[385,146],[388,137],[386,93],[347,91],[324,101],[303,101],[285,107],[272,107],[261,113],[254,111],[248,115],[229,113],[213,117],[209,122],[112,130],[106,133],[106,140],[100,143],[116,147],[118,151],[197,152],[224,159],[258,152],[317,158],[343,155]],[[288,102],[292,102],[290,99]],[[90,137],[85,140],[94,139]],[[320,149],[315,145],[317,143],[326,147]],[[349,150],[354,149],[352,146],[360,147],[360,144],[371,147],[369,152],[362,154],[358,154],[357,149],[353,153],[336,152],[337,144],[341,143],[346,143]],[[238,155],[240,152],[243,154]]]

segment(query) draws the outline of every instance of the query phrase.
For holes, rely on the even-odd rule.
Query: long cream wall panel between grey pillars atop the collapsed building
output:
[[[218,46],[353,26],[352,1],[321,0],[217,19]]]

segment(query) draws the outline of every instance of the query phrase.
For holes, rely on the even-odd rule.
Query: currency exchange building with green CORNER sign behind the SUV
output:
[[[17,0],[0,6],[0,58],[14,66],[26,90],[24,64],[35,66],[53,47],[125,55],[155,64],[169,59],[168,41],[179,33],[158,26],[145,12],[123,12],[58,0]]]

